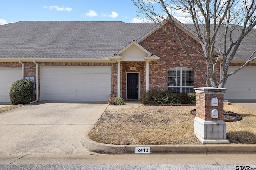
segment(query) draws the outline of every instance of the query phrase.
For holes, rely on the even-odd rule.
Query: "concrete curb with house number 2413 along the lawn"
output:
[[[82,143],[88,150],[101,154],[135,154],[135,147],[150,147],[151,154],[217,154],[247,153],[255,154],[255,144],[202,144],[202,145],[113,145],[93,141],[84,134]]]

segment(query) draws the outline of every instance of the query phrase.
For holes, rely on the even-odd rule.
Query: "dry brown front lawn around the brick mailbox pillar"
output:
[[[108,144],[202,144],[194,135],[195,106],[141,106],[106,109],[88,133],[94,141]],[[231,143],[256,144],[256,111],[236,105],[224,110],[242,120],[226,122]]]

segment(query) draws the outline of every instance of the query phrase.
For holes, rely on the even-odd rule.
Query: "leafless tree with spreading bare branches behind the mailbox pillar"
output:
[[[206,86],[223,88],[227,78],[256,59],[255,49],[247,61],[234,72],[228,68],[234,59],[242,40],[254,30],[256,25],[256,3],[254,0],[132,0],[137,6],[137,16],[144,21],[154,21],[167,33],[172,34],[206,79]],[[184,20],[190,22],[202,51],[184,42],[173,17],[182,13]],[[172,23],[175,33],[166,27],[166,21]],[[238,35],[238,36],[237,36]],[[190,47],[204,57],[207,72],[195,61],[187,50]],[[216,51],[218,52],[216,54]],[[222,79],[216,81],[215,66],[223,59]]]

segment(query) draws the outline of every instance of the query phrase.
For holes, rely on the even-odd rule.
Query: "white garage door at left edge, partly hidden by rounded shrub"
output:
[[[10,87],[13,82],[20,79],[21,68],[0,68],[0,103],[10,103]]]

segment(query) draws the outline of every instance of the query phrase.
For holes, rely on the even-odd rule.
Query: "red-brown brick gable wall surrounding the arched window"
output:
[[[175,33],[172,30],[172,33]],[[192,39],[189,35],[179,29],[180,35],[184,43],[202,49],[201,45]],[[206,80],[196,65],[192,64],[186,53],[180,46],[178,40],[172,35],[167,34],[163,29],[158,29],[155,33],[146,38],[142,43],[142,47],[147,49],[150,53],[160,57],[156,62],[150,62],[150,89],[168,90],[168,69],[180,67],[193,68],[195,70],[195,87],[206,86]],[[205,59],[198,55],[193,49],[188,48],[192,59],[196,60],[204,72],[206,72]],[[200,50],[202,53],[203,51]],[[216,64],[216,79],[219,81],[220,64]]]

